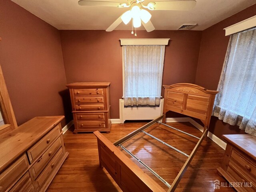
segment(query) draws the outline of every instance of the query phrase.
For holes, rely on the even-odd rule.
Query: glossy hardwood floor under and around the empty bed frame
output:
[[[112,124],[111,132],[104,133],[104,136],[111,142],[122,138],[126,134],[140,128],[145,122],[128,122],[125,124]],[[180,130],[200,137],[202,132],[194,128],[190,123],[167,123]],[[70,152],[69,158],[64,162],[58,174],[50,184],[48,192],[117,192],[121,191],[108,172],[99,167],[98,148],[96,137],[92,133],[72,134],[70,128],[64,134],[66,150]],[[172,130],[160,124],[154,124],[146,132],[156,136],[164,142],[190,154],[196,142],[192,138],[176,130]],[[180,171],[186,161],[186,156],[161,144],[153,138],[140,133],[128,142],[123,144],[130,152],[140,158],[150,168],[157,172],[169,184]],[[122,150],[123,151],[123,150]],[[123,151],[129,158],[129,154]],[[176,188],[177,192],[212,192],[214,190],[214,180],[226,182],[224,178],[217,174],[224,156],[224,150],[208,139],[203,141],[196,156],[185,172],[182,180]],[[150,175],[158,184],[168,190],[158,178],[142,167],[136,160],[131,158],[140,168]],[[226,184],[228,185],[228,184]],[[230,187],[221,187],[216,191],[234,191]]]

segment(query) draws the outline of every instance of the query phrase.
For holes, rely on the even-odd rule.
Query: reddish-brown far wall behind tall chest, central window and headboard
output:
[[[163,84],[194,83],[200,31],[137,31],[137,35],[137,38],[170,38],[165,51]],[[110,81],[111,118],[119,118],[118,100],[122,98],[119,39],[134,35],[118,30],[62,30],[60,37],[67,82]]]

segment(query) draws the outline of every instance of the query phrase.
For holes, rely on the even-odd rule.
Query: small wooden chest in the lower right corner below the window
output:
[[[222,166],[218,172],[234,184],[238,192],[256,191],[256,137],[250,134],[223,135],[227,141]]]

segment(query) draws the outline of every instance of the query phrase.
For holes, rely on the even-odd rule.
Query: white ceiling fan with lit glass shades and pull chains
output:
[[[128,8],[131,9],[124,12],[114,23],[112,23],[106,31],[114,30],[121,22],[128,24],[132,20],[132,26],[136,29],[144,26],[147,32],[153,31],[155,28],[150,21],[151,14],[146,10],[191,10],[196,5],[195,0],[169,0],[169,1],[156,1],[150,2],[144,5],[144,0],[127,0],[128,4],[120,2],[108,2],[97,0],[80,0],[78,4],[81,6],[110,6],[116,8]],[[133,30],[132,30],[133,34]],[[136,33],[135,33],[136,35]]]

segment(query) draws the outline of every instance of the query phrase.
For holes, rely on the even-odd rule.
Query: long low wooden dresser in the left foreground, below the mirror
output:
[[[0,192],[44,192],[68,157],[60,121],[35,117],[0,136]]]

